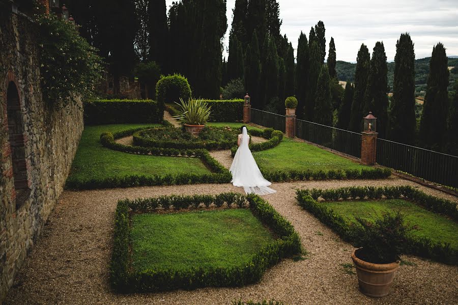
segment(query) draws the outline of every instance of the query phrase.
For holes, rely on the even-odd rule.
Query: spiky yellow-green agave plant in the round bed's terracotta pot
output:
[[[187,102],[180,98],[178,114],[174,116],[183,124],[204,125],[210,118],[211,108],[203,99],[189,99]]]

